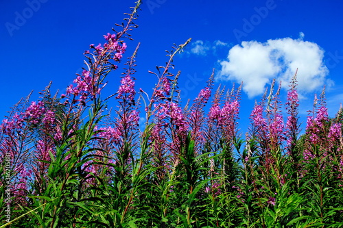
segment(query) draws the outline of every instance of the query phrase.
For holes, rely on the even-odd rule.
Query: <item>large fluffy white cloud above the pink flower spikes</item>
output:
[[[324,51],[314,42],[300,38],[283,38],[241,42],[231,48],[228,60],[220,62],[222,68],[217,79],[244,82],[244,91],[252,98],[265,90],[265,85],[276,78],[287,88],[298,68],[300,93],[314,91],[326,83],[329,73],[323,63]],[[331,81],[332,82],[332,81]]]

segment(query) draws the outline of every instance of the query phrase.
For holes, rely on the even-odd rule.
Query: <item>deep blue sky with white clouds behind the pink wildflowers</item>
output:
[[[51,92],[65,92],[81,71],[88,45],[103,43],[103,35],[133,5],[114,0],[0,0],[1,118],[31,90],[32,101],[38,99],[49,81]],[[273,78],[283,80],[285,102],[287,81],[296,68],[302,120],[324,85],[333,116],[343,100],[342,9],[340,0],[145,0],[126,57],[141,42],[135,77],[137,87],[149,93],[156,78],[147,71],[165,64],[165,50],[174,43],[192,38],[174,60],[175,72],[181,71],[182,99],[196,97],[213,68],[215,88],[231,88],[243,80],[243,129],[255,100]],[[108,93],[117,91],[121,72],[108,78]]]

